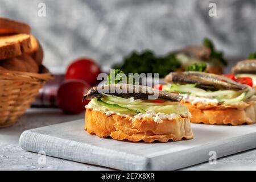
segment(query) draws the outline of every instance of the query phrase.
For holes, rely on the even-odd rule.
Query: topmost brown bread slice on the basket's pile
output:
[[[30,26],[15,20],[0,18],[0,35],[30,34]]]

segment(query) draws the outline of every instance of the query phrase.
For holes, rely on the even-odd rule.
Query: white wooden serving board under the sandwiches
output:
[[[133,143],[98,138],[84,131],[84,120],[24,131],[20,146],[27,151],[122,170],[169,170],[256,148],[256,125],[192,124],[195,139],[167,143]]]

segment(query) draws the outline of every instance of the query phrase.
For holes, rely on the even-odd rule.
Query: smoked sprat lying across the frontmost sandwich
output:
[[[149,96],[158,96],[157,100],[176,101],[182,100],[183,96],[162,90],[156,90],[148,86],[130,85],[130,84],[111,84],[94,86],[87,94],[84,95],[84,100],[92,98],[104,97],[104,94],[109,94],[122,98],[134,97],[134,99],[148,100]]]

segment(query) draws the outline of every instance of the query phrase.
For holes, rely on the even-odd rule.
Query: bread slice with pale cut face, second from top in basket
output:
[[[22,55],[31,49],[30,35],[0,36],[0,60]]]

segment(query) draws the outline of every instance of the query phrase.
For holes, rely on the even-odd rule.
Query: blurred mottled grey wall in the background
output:
[[[208,15],[211,2],[217,17]],[[0,16],[30,24],[55,73],[82,56],[105,71],[134,49],[164,54],[205,36],[229,59],[256,51],[256,0],[0,0]]]

